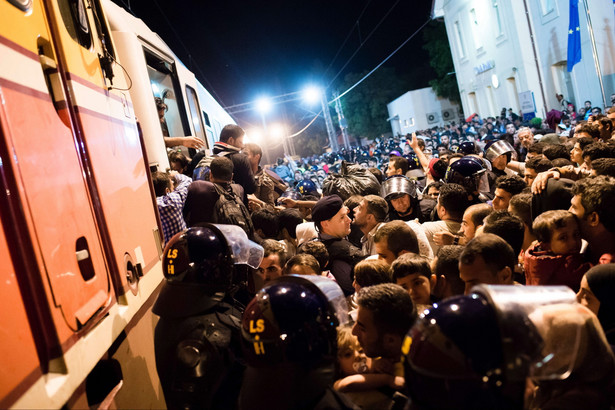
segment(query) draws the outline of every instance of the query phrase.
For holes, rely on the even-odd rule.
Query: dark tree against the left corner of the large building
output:
[[[443,21],[432,20],[423,31],[423,49],[429,53],[429,65],[436,78],[429,82],[436,94],[460,103],[455,66]]]

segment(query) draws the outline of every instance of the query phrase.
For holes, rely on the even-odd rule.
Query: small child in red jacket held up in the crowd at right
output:
[[[538,241],[525,252],[527,285],[565,285],[579,291],[583,274],[591,267],[583,263],[581,233],[575,216],[563,210],[546,211],[532,224]]]

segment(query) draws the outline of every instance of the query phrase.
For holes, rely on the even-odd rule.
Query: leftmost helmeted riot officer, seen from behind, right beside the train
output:
[[[156,369],[169,409],[232,409],[241,384],[240,320],[233,295],[241,266],[263,248],[238,226],[204,224],[175,235],[163,255],[166,282],[152,311]],[[235,282],[235,283],[234,283]]]

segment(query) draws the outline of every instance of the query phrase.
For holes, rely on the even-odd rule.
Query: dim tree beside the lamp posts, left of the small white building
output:
[[[356,84],[368,71],[350,73],[344,78],[342,90]],[[391,132],[387,121],[387,104],[408,90],[406,81],[393,68],[381,67],[365,81],[342,97],[342,109],[348,121],[348,133],[355,137],[374,139]],[[337,116],[334,116],[337,124]]]

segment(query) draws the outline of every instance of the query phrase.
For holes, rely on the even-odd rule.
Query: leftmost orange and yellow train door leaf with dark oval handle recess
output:
[[[37,341],[57,357],[76,340],[73,332],[102,317],[111,301],[110,282],[88,169],[78,152],[79,130],[67,109],[71,103],[58,75],[58,53],[43,4],[0,3],[0,153],[10,153],[1,160],[13,188],[1,194],[8,202],[19,201],[11,214],[3,214],[2,223],[15,224],[20,237],[31,242],[23,247],[31,252],[13,257],[36,263],[42,276],[18,280],[26,290],[38,283],[44,289],[42,297],[26,300],[42,304],[36,311],[50,312],[52,322],[44,316],[38,318],[41,323],[30,321],[51,327],[49,334],[57,330],[59,340]]]

